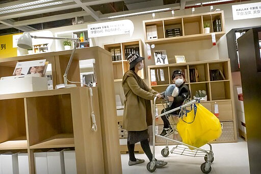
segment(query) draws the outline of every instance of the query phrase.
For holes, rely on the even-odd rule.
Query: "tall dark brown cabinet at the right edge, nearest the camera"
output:
[[[250,29],[238,39],[250,173],[260,172],[260,42],[261,27]]]

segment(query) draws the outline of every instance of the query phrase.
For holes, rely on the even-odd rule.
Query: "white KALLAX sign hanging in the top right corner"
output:
[[[261,3],[232,6],[233,20],[261,17]]]

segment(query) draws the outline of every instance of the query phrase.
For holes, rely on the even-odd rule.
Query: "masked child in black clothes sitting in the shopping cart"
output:
[[[161,113],[166,111],[170,111],[181,106],[187,98],[190,98],[190,90],[184,82],[184,76],[181,70],[175,70],[172,73],[172,82],[165,92],[162,94],[169,101],[167,108],[163,109]],[[178,89],[177,89],[178,88]],[[179,116],[180,110],[173,111],[170,114]],[[160,134],[161,136],[167,137],[173,133],[173,129],[170,126],[170,122],[168,120],[169,114],[163,115],[161,118],[164,122],[163,131]]]

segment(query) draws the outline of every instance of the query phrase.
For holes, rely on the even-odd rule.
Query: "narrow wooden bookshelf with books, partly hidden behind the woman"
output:
[[[133,41],[127,41],[127,42],[121,42],[121,43],[109,43],[104,44],[103,47],[111,52],[111,60],[113,63],[113,74],[114,74],[114,89],[115,94],[120,95],[121,103],[124,103],[124,93],[122,89],[122,78],[124,73],[129,70],[129,63],[127,62],[128,55],[132,53],[137,53],[141,57],[143,56],[143,49],[142,49],[142,42],[141,40],[133,40]],[[120,54],[115,54],[116,52],[119,52]],[[145,67],[145,66],[144,66]],[[144,69],[138,72],[138,75],[144,79]],[[117,122],[122,122],[122,116],[117,116]],[[119,125],[118,125],[119,126]],[[119,135],[120,138],[120,135]],[[121,139],[121,138],[120,138]],[[120,152],[122,154],[126,153],[127,145],[120,145]],[[143,150],[141,148],[140,144],[135,145],[135,151],[142,153]]]

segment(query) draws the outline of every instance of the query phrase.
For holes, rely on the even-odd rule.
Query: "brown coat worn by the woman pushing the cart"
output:
[[[156,91],[149,89],[132,70],[125,72],[122,79],[125,94],[122,128],[127,131],[143,131],[152,125],[150,100]]]

